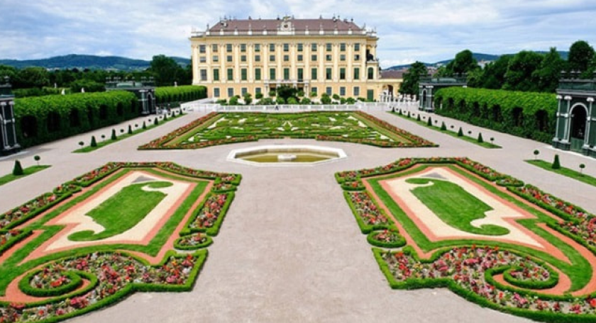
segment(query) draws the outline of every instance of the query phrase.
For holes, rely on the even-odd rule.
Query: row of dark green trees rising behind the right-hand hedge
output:
[[[580,78],[592,79],[596,71],[594,47],[578,40],[569,48],[567,60],[561,57],[556,47],[551,47],[546,54],[522,50],[515,55],[502,55],[484,68],[480,67],[470,50],[463,50],[451,62],[440,67],[434,77],[466,74],[468,86],[474,88],[553,93],[563,71],[575,71]],[[424,63],[412,64],[404,73],[399,93],[418,95],[419,81],[427,74]]]

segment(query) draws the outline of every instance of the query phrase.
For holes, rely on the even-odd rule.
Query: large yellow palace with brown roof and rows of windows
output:
[[[378,39],[374,30],[339,17],[224,18],[192,33],[192,84],[206,86],[214,98],[267,97],[283,85],[307,96],[393,96],[401,79],[382,78]]]

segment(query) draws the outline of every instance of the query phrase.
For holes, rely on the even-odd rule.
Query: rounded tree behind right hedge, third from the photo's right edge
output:
[[[517,53],[509,62],[503,89],[512,91],[538,91],[538,79],[534,74],[543,56],[528,50]]]

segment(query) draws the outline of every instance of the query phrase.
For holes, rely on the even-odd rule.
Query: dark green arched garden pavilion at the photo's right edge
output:
[[[595,79],[565,73],[557,89],[558,110],[553,147],[596,157]]]

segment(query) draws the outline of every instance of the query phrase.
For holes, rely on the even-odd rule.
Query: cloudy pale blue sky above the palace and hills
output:
[[[375,28],[381,67],[461,50],[510,54],[596,45],[595,0],[0,0],[0,59],[67,54],[190,57],[191,31],[224,16],[340,18]]]

